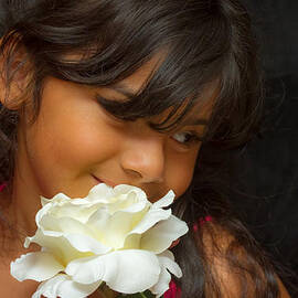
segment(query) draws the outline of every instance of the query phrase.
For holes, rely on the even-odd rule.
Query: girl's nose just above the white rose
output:
[[[128,179],[139,183],[162,182],[164,148],[162,138],[130,140],[121,152],[120,166]]]

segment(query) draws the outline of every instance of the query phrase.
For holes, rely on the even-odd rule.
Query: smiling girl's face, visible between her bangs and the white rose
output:
[[[204,126],[195,120],[209,118],[211,104],[194,108],[189,126],[160,134],[149,127],[148,119],[119,120],[96,100],[98,94],[125,100],[125,93],[138,92],[155,65],[155,61],[145,64],[120,82],[117,91],[49,77],[36,121],[28,124],[29,111],[20,120],[17,193],[30,198],[51,198],[57,192],[84,196],[104,182],[139,187],[151,201],[170,189],[180,196],[191,182],[200,150],[195,135],[202,137],[204,132]],[[209,89],[203,96],[212,97],[213,93]],[[160,120],[167,113],[150,120]]]

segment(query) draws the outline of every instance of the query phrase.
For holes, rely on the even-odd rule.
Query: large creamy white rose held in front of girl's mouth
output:
[[[182,276],[168,251],[188,232],[170,209],[163,210],[173,199],[170,191],[152,204],[138,188],[103,183],[84,199],[42,198],[38,231],[24,244],[42,249],[12,262],[11,274],[20,281],[42,281],[33,298],[83,298],[103,281],[123,294],[150,289],[160,297],[170,273]]]

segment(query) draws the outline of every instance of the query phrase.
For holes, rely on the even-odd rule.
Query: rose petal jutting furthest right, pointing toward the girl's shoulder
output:
[[[167,221],[157,223],[142,234],[140,248],[160,254],[188,231],[184,222],[171,215]]]

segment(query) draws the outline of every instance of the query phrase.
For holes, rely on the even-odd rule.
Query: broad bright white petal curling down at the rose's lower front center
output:
[[[73,260],[65,272],[77,283],[104,280],[116,291],[134,294],[143,291],[158,281],[160,265],[155,254],[129,249]]]

